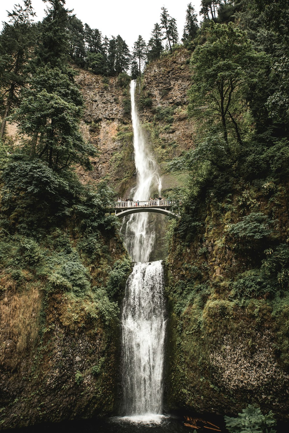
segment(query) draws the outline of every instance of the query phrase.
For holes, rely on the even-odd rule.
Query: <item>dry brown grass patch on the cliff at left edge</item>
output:
[[[37,341],[42,295],[36,288],[17,292],[15,282],[0,278],[0,364],[14,369]]]

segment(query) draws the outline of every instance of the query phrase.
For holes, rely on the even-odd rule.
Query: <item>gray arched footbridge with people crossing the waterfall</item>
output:
[[[178,214],[170,210],[173,204],[171,200],[116,201],[113,210],[118,218],[139,212],[163,213],[177,218]]]

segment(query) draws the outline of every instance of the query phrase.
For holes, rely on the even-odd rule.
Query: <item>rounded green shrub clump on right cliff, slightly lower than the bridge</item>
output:
[[[228,231],[241,239],[259,240],[273,233],[270,228],[273,223],[274,220],[270,220],[267,215],[251,212],[238,223],[231,224]]]

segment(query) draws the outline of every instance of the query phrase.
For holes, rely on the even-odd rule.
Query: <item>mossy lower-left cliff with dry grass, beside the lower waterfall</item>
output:
[[[47,279],[37,278],[31,268],[22,269],[20,280],[15,271],[2,272],[1,428],[87,418],[116,410],[120,350],[117,300],[123,297],[130,270],[119,241],[112,238],[104,248],[100,260],[88,268],[93,287],[80,292],[75,287],[62,288],[59,274],[51,291]],[[64,262],[69,266],[68,257]],[[74,276],[76,272],[74,269]],[[105,288],[112,278],[113,288],[119,286],[116,297]]]

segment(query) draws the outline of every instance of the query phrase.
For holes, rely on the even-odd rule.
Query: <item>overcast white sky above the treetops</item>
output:
[[[196,12],[199,12],[201,0],[191,0]],[[7,21],[6,10],[11,11],[14,4],[23,4],[22,0],[0,0],[0,27],[2,21]],[[93,29],[99,29],[102,35],[120,35],[129,48],[141,35],[146,42],[151,35],[154,23],[160,22],[161,7],[165,6],[177,20],[180,38],[183,35],[186,7],[190,0],[66,0],[67,9],[74,9],[77,18],[87,23]],[[36,12],[35,21],[44,17],[45,3],[42,0],[32,0]]]

